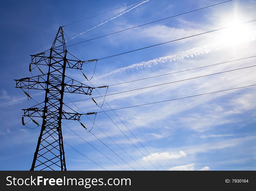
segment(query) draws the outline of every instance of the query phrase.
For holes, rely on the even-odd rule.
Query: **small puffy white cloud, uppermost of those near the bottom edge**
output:
[[[163,152],[163,153],[152,153],[151,156],[148,155],[147,158],[144,156],[142,159],[144,161],[148,160],[165,160],[165,159],[177,159],[177,158],[182,158],[185,157],[186,153],[183,151],[179,151],[178,154],[174,154],[173,152],[168,153],[168,152]]]

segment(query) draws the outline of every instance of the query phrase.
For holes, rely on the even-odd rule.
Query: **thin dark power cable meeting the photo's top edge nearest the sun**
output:
[[[232,1],[232,0],[230,0],[230,1]],[[226,3],[226,2],[229,2],[229,1],[225,1],[225,2],[222,2],[222,3]],[[147,25],[147,24],[152,24],[152,23],[159,22],[159,21],[162,21],[162,20],[165,20],[165,19],[170,19],[170,18],[173,18],[173,17],[177,17],[177,16],[180,16],[180,15],[184,15],[184,14],[191,13],[191,12],[194,12],[194,11],[198,11],[198,10],[201,10],[201,9],[205,9],[205,8],[209,8],[209,7],[212,7],[212,6],[216,6],[216,5],[219,5],[219,4],[222,4],[222,3],[217,3],[217,4],[214,4],[214,5],[211,5],[211,6],[207,6],[207,7],[195,9],[195,10],[192,10],[192,11],[189,11],[189,12],[186,12],[186,13],[181,13],[181,14],[178,14],[178,15],[174,15],[174,16],[171,16],[171,17],[164,18],[164,19],[159,19],[159,20],[157,20],[157,21],[149,22],[149,23],[146,23],[146,24],[141,24],[141,25],[134,26],[134,27],[131,27],[131,28],[127,28],[127,29],[124,29],[124,30],[121,30],[121,31],[117,31],[117,32],[110,33],[110,34],[107,34],[107,35],[102,35],[102,36],[99,36],[99,37],[96,37],[96,38],[92,38],[92,39],[89,39],[89,40],[85,40],[85,41],[83,41],[83,42],[88,42],[88,41],[90,41],[90,40],[95,40],[95,39],[102,38],[102,37],[105,37],[105,36],[113,35],[113,34],[116,34],[116,33],[120,33],[120,32],[123,32],[123,31],[127,31],[127,30],[130,30],[130,29],[133,29],[133,28],[137,28],[137,27],[140,27],[140,26]],[[77,43],[77,44],[80,44],[80,43],[83,43],[83,42],[79,42],[79,43]],[[70,45],[70,46],[72,46],[72,45]],[[67,47],[69,47],[69,46],[67,46]]]

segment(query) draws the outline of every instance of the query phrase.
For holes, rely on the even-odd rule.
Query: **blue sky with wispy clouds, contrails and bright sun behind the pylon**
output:
[[[36,103],[33,100],[28,101],[22,90],[14,88],[15,82],[13,81],[13,79],[31,76],[28,70],[31,61],[29,55],[49,49],[59,26],[133,2],[134,0],[62,1],[61,3],[59,1],[4,1],[1,3],[0,170],[29,170],[40,133],[40,128],[28,129],[22,126],[23,113],[21,109],[34,106]],[[138,5],[140,3],[138,2],[68,25],[64,32],[70,39],[73,38],[72,43],[77,43],[220,2],[222,1],[150,0],[124,13]],[[99,78],[94,76],[91,80],[94,86],[111,85],[246,58],[255,56],[256,25],[254,22],[239,26],[235,24],[256,19],[255,8],[256,2],[253,0],[234,0],[81,43],[76,47],[82,56],[89,60],[230,26],[226,30],[100,60],[95,72]],[[120,15],[121,13],[124,14]],[[120,16],[116,17],[118,15]],[[110,20],[114,17],[116,18]],[[106,23],[102,24],[104,22]],[[98,26],[99,24],[102,25]],[[95,26],[98,27],[87,31]],[[82,34],[79,35],[80,33]],[[66,37],[65,40],[67,41],[66,45],[71,44]],[[67,49],[74,56],[83,60],[74,47],[70,46]],[[90,63],[90,67],[93,68],[94,65],[95,63]],[[116,93],[143,88],[252,65],[255,65],[255,58],[248,58],[110,86],[109,92]],[[88,77],[93,74],[90,67],[88,65],[83,67],[83,72]],[[255,72],[255,67],[251,67],[154,88],[115,94],[113,95],[114,99],[107,96],[106,102],[111,108],[116,109],[120,108],[118,104],[127,107],[254,85],[256,82]],[[33,71],[33,75],[39,74],[39,71]],[[67,75],[88,84],[79,71],[69,70]],[[104,94],[105,90],[100,89],[99,92]],[[44,94],[40,90],[30,91],[30,94],[38,102],[42,102],[44,99]],[[89,98],[79,94],[66,95],[72,101]],[[256,170],[256,105],[253,101],[255,95],[256,87],[253,86],[200,97],[127,108],[124,109],[127,115],[122,110],[115,112],[165,170]],[[97,96],[97,92],[93,92],[93,97]],[[102,104],[101,98],[95,99],[99,104]],[[68,100],[65,98],[64,101],[67,102]],[[79,101],[76,104],[84,113],[101,111],[91,99]],[[69,103],[68,106],[80,112],[72,103]],[[106,103],[102,108],[109,110]],[[115,113],[112,111],[106,113],[148,160],[161,170],[159,164],[127,130]],[[94,116],[89,117],[93,120]],[[41,122],[41,119],[36,120]],[[93,125],[86,116],[81,117],[81,122],[86,124],[88,128]],[[77,121],[63,120],[63,123],[125,170],[132,169],[102,142],[134,169],[143,170],[96,126],[92,132],[102,142],[91,133],[86,133]],[[156,170],[104,113],[97,114],[95,124],[145,169]],[[34,127],[34,125],[33,122],[28,124],[29,127]],[[137,127],[157,152],[138,131]],[[63,126],[62,131],[63,140],[83,155],[107,170],[122,170],[65,126]],[[101,167],[66,144],[64,148],[67,170],[102,170]]]

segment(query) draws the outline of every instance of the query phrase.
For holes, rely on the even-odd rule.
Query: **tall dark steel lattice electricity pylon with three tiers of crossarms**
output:
[[[45,91],[44,102],[31,108],[23,109],[24,117],[31,119],[33,117],[42,118],[41,132],[30,170],[66,170],[61,120],[80,120],[83,114],[79,114],[74,110],[74,113],[63,110],[64,92],[91,95],[94,88],[68,78],[65,76],[65,70],[67,68],[81,70],[83,64],[88,61],[81,61],[67,52],[62,27],[59,28],[49,51],[30,56],[32,61],[29,65],[29,71],[31,72],[32,65],[38,67],[42,74],[15,80],[15,88]],[[46,74],[39,68],[40,65],[48,67]],[[31,98],[27,92],[24,91],[24,93],[28,98]],[[25,124],[24,117],[22,117],[23,125]],[[34,119],[32,120],[39,125]]]

